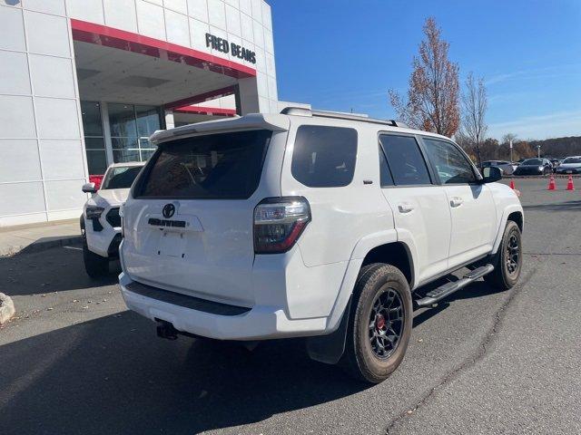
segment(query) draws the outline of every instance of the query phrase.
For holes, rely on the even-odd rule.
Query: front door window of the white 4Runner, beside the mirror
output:
[[[472,165],[453,144],[444,140],[422,139],[426,144],[428,159],[436,167],[442,184],[473,183],[477,180]]]

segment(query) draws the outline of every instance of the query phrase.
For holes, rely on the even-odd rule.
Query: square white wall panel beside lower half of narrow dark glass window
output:
[[[81,140],[40,140],[44,179],[83,179]]]

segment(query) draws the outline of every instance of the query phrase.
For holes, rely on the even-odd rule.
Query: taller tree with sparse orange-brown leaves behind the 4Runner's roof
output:
[[[449,43],[441,39],[434,18],[426,20],[423,32],[425,39],[412,63],[408,99],[389,90],[389,100],[410,126],[452,137],[460,120],[458,64],[448,60]]]

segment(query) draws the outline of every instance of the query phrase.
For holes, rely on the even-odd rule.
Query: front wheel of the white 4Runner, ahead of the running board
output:
[[[516,250],[515,250],[516,246]],[[515,258],[516,254],[516,258]],[[510,257],[511,256],[511,257]],[[510,262],[509,262],[510,259]],[[509,220],[498,252],[493,258],[494,270],[484,276],[487,284],[499,290],[508,290],[517,284],[522,269],[522,237],[516,222]]]

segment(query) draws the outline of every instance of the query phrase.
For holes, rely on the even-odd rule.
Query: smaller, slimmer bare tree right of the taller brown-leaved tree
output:
[[[488,130],[485,117],[487,114],[487,88],[484,79],[474,78],[473,73],[468,73],[466,78],[466,91],[462,94],[462,128],[461,134],[468,138],[476,148],[478,166],[480,160],[480,144],[485,139]]]

